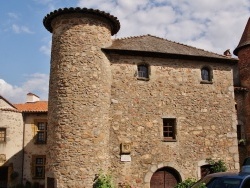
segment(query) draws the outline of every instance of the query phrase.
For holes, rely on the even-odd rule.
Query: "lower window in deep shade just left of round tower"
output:
[[[33,156],[33,178],[44,178],[45,177],[45,155],[34,155]]]

